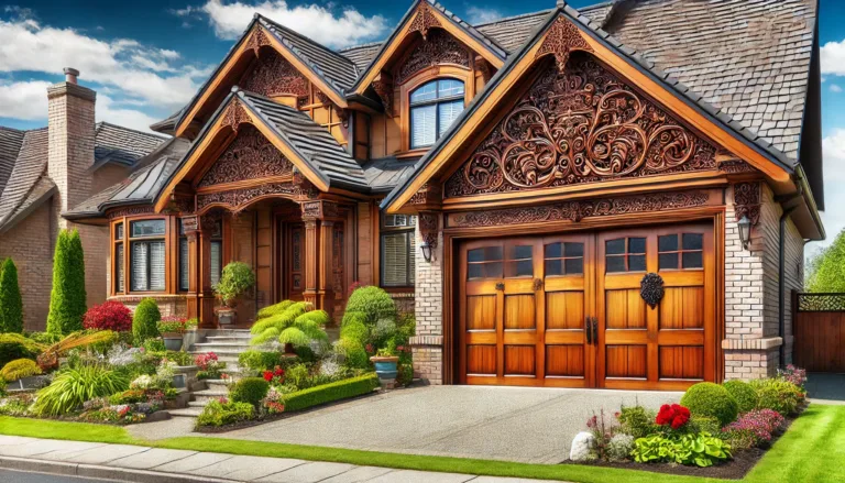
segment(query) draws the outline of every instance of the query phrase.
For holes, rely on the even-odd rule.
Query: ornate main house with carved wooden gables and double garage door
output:
[[[431,383],[679,389],[772,374],[824,238],[815,0],[566,4],[470,25],[415,1],[330,51],[255,15],[174,134],[66,217],[108,221],[113,299],[216,327],[413,299]],[[189,144],[189,146],[188,146]],[[179,150],[185,150],[179,155]]]

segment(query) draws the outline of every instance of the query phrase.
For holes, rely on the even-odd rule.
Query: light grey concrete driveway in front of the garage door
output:
[[[417,454],[559,463],[577,432],[604,408],[658,408],[682,393],[534,387],[399,389],[219,435]]]

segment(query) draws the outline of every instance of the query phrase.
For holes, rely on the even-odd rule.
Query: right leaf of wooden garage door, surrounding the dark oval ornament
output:
[[[715,376],[715,252],[711,226],[678,226],[597,237],[597,385],[682,389]],[[646,273],[663,281],[649,307]]]

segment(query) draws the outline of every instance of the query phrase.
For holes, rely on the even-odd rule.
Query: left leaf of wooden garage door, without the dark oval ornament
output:
[[[459,255],[459,381],[465,384],[594,384],[585,312],[592,239],[482,240]]]

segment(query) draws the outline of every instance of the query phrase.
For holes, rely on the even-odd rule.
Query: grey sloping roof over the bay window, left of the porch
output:
[[[91,196],[62,213],[67,219],[101,217],[113,206],[151,204],[169,179],[190,142],[172,138],[152,153],[140,158],[127,179]]]

